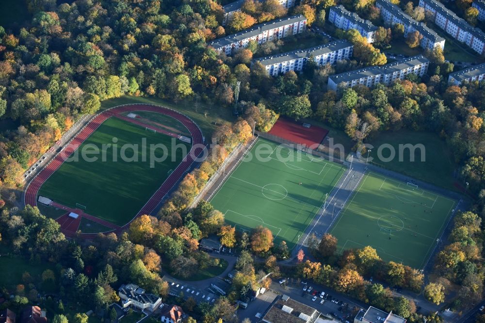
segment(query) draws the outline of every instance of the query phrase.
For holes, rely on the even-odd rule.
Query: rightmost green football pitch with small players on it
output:
[[[421,269],[455,205],[415,185],[367,173],[330,233],[339,252],[370,245],[386,261]]]

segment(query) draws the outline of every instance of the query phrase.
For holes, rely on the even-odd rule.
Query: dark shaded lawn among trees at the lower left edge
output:
[[[50,262],[30,262],[28,259],[2,255],[0,258],[0,286],[15,291],[17,284],[23,284],[22,275],[25,272],[28,272],[32,276],[34,284],[38,285],[42,282],[41,275],[46,269],[55,272],[55,265]],[[38,287],[45,292],[52,292],[55,284],[40,284]]]

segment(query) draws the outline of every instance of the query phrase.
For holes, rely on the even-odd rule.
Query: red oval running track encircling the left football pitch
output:
[[[171,109],[167,109],[160,106],[151,106],[151,105],[138,105],[133,104],[129,106],[120,106],[115,107],[111,110],[103,111],[97,114],[93,120],[91,120],[84,129],[82,129],[76,137],[68,144],[65,145],[63,150],[46,166],[40,173],[35,176],[31,182],[28,184],[25,194],[24,194],[24,202],[25,205],[30,204],[31,206],[37,206],[37,194],[39,192],[40,187],[44,182],[62,165],[62,163],[86,140],[106,119],[111,117],[113,113],[118,114],[116,117],[119,116],[119,113],[123,112],[132,112],[132,111],[149,111],[149,112],[156,112],[162,113],[168,116],[173,117],[174,119],[178,120],[182,123],[190,132],[192,136],[192,148],[189,154],[180,162],[178,167],[169,175],[167,179],[162,183],[162,186],[148,199],[146,204],[142,207],[140,211],[136,215],[134,215],[133,221],[137,216],[143,214],[150,214],[155,210],[157,205],[162,200],[163,196],[167,194],[170,189],[177,183],[177,181],[184,175],[185,171],[192,165],[194,160],[197,156],[200,155],[202,150],[204,149],[204,140],[202,136],[202,132],[197,127],[197,125],[187,116],[183,115],[182,113],[178,113]],[[129,120],[132,121],[132,120]],[[114,233],[120,233],[121,231],[128,228],[129,224],[127,223],[125,226],[118,228],[116,230],[110,231]],[[61,228],[62,230],[62,228]],[[67,237],[73,237],[75,234],[72,232],[63,231],[63,233]],[[81,238],[83,239],[95,239],[97,234],[89,234],[89,233],[82,233]]]

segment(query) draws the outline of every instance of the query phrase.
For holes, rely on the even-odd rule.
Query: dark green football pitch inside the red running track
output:
[[[97,155],[97,161],[81,158],[83,149],[96,146],[102,150],[102,145],[113,144],[113,138],[117,139],[116,152],[110,147],[105,149],[106,158],[102,158],[101,154]],[[142,149],[142,138],[146,138],[145,151]],[[123,226],[138,213],[168,177],[169,171],[177,168],[190,150],[191,145],[177,141],[176,144],[184,145],[186,151],[177,149],[173,152],[170,149],[172,139],[165,134],[111,117],[77,149],[78,161],[65,161],[41,186],[39,194],[72,208],[81,204],[86,207],[86,213]],[[152,144],[165,145],[168,153],[165,161],[153,162],[154,167],[150,166],[149,147]],[[138,145],[138,161],[124,161],[121,158],[123,145]],[[126,147],[124,155],[128,158],[135,156],[133,149]],[[117,158],[113,158],[113,154]],[[162,149],[154,149],[153,154],[161,158],[164,152]]]

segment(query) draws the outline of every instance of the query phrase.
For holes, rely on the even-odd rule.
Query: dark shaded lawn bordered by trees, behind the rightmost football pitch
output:
[[[372,149],[370,156],[373,158],[373,163],[405,174],[412,178],[424,180],[436,186],[441,186],[446,189],[455,190],[453,185],[455,179],[453,178],[453,171],[455,164],[453,162],[452,153],[446,146],[446,143],[439,138],[438,135],[431,132],[418,132],[412,130],[387,131],[377,135],[376,138],[368,140],[369,144],[374,147],[388,144],[392,145],[396,151],[396,157],[389,161],[379,161],[377,158],[378,149]],[[414,151],[414,160],[410,161],[410,150],[405,149],[402,154],[402,161],[399,161],[399,145],[400,144],[422,144],[425,147],[425,161],[421,160],[421,151],[416,149]],[[389,157],[389,149],[382,150],[382,156]],[[367,157],[367,155],[364,155]]]

